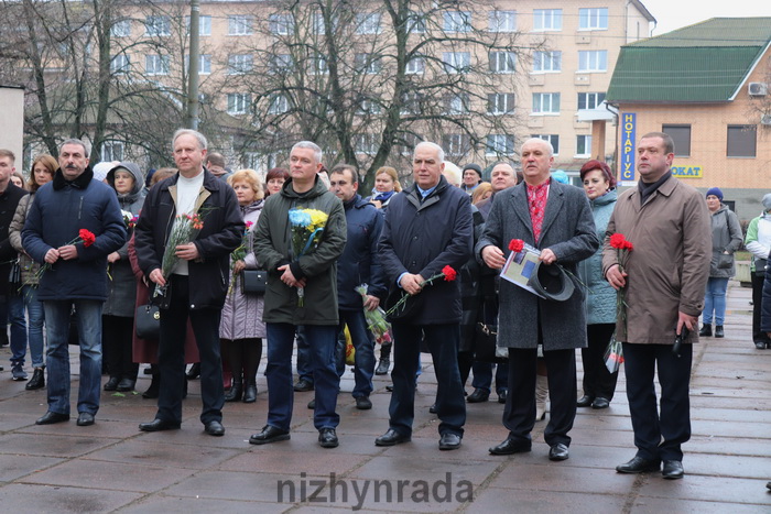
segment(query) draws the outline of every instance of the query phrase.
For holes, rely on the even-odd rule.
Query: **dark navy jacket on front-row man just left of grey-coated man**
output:
[[[427,280],[444,266],[456,272],[468,261],[473,248],[471,203],[467,194],[439,177],[436,188],[421,203],[415,185],[391,198],[379,253],[391,296],[401,292],[402,273]],[[457,324],[460,319],[458,281],[436,280],[419,293],[409,322]]]

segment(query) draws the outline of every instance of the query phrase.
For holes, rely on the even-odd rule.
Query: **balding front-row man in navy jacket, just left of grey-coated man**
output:
[[[438,382],[439,449],[454,450],[463,438],[466,404],[457,360],[460,289],[457,282],[442,277],[425,284],[446,266],[460,270],[471,254],[469,197],[447,183],[443,169],[442,147],[420,143],[413,154],[415,183],[395,195],[386,212],[379,252],[390,297],[399,298],[402,294],[414,297],[392,319],[395,342],[390,426],[376,439],[377,446],[411,439],[421,339],[431,350]]]

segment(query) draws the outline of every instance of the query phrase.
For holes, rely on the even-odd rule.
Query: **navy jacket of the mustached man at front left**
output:
[[[126,225],[115,190],[98,181],[87,167],[74,181],[62,169],[35,193],[35,201],[21,232],[26,253],[43,263],[52,248],[70,244],[80,229],[96,241],[86,248],[75,244],[77,259],[57,260],[40,280],[37,299],[107,299],[107,255],[126,242]]]

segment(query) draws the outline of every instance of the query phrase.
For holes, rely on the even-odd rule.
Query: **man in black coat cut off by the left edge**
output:
[[[17,187],[11,182],[11,175],[17,171],[14,167],[15,155],[13,152],[6,149],[0,149],[0,321],[2,321],[2,333],[0,341],[2,345],[8,345],[8,333],[6,330],[6,320],[10,314],[13,318],[11,322],[21,322],[21,330],[14,333],[11,330],[11,372],[13,380],[26,380],[24,371],[24,357],[26,356],[26,325],[24,324],[24,303],[21,296],[9,286],[9,273],[11,271],[10,262],[15,260],[19,254],[11,247],[11,241],[8,239],[8,228],[13,220],[13,215],[17,211],[19,200],[28,193],[21,187]],[[19,287],[21,284],[17,284]],[[0,370],[2,368],[0,367]]]

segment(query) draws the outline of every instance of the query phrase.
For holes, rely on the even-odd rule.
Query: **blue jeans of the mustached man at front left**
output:
[[[45,300],[45,325],[48,335],[48,411],[69,414],[69,315],[77,310],[80,343],[80,386],[77,412],[96,414],[101,385],[101,308],[94,299]]]

